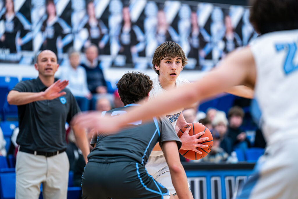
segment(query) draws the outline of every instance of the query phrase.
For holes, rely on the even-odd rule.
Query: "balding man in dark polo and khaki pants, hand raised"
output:
[[[69,173],[64,152],[65,123],[80,109],[75,97],[65,88],[68,81],[55,82],[54,74],[59,67],[55,53],[42,51],[34,67],[38,78],[19,82],[7,95],[8,103],[18,106],[20,129],[15,198],[37,199],[42,183],[44,198],[65,199]],[[87,162],[90,151],[85,131],[73,130]]]

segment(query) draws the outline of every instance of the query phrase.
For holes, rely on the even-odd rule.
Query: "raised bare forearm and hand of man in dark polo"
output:
[[[63,90],[67,84],[68,81],[66,80],[58,80],[44,92],[18,92],[12,90],[7,95],[7,102],[13,105],[24,105],[34,101],[52,100],[66,94],[66,92],[61,92],[61,90]]]

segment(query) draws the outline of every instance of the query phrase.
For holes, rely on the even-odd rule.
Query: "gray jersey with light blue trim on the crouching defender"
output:
[[[106,115],[125,114],[128,108],[112,109]],[[145,165],[156,143],[162,147],[164,141],[176,141],[178,149],[181,147],[181,141],[167,118],[153,118],[146,123],[137,121],[114,135],[98,136],[88,159],[94,162],[137,161]]]

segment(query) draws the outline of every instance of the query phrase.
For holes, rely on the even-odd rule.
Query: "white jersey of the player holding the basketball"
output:
[[[162,88],[162,86],[159,83],[159,76],[156,76],[155,78],[153,78],[152,81],[153,81],[153,88],[150,91],[149,100],[152,100],[153,98],[156,98],[156,96],[158,96],[158,95],[160,95],[160,94],[162,94],[163,92],[166,91]],[[184,84],[189,84],[189,83],[190,82],[186,79],[181,79],[181,78],[176,79],[176,87],[180,87]],[[168,120],[171,122],[171,124],[173,125],[174,128],[176,126],[177,119],[178,119],[178,117],[179,117],[179,115],[181,114],[182,111],[183,111],[183,108],[178,109],[178,110],[173,111],[173,112],[170,112],[170,113],[165,115],[168,118]],[[159,156],[159,155],[163,155],[163,152],[162,151],[152,151],[151,154],[150,154],[150,156]]]

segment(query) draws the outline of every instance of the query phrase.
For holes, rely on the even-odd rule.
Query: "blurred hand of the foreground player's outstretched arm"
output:
[[[102,134],[111,134],[116,132],[120,126],[116,122],[117,118],[109,116],[101,116],[101,112],[91,111],[77,114],[71,121],[71,125],[77,125],[80,128],[92,129],[92,132],[100,132]]]

